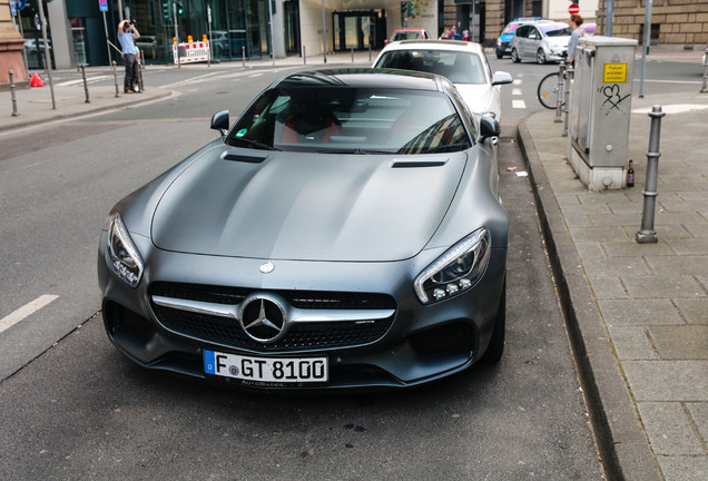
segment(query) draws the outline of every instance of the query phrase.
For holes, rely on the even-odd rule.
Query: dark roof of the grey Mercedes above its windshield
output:
[[[454,88],[445,77],[413,70],[338,68],[291,73],[272,87],[358,87],[448,91]]]

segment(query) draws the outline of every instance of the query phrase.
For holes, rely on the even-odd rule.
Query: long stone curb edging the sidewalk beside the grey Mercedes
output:
[[[527,127],[532,117],[527,116],[519,121],[517,139],[529,170],[549,262],[606,475],[609,480],[662,480],[576,246],[564,227],[553,189]]]

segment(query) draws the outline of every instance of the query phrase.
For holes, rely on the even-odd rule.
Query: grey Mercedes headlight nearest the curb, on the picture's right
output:
[[[452,246],[413,281],[419,301],[432,304],[472,288],[486,271],[491,248],[492,238],[485,228]]]

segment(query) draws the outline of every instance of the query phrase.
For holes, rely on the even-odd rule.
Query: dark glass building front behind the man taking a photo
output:
[[[98,1],[66,3],[77,62],[107,65],[109,50],[110,60],[120,62],[116,30],[121,9],[122,17],[134,20],[140,32],[136,45],[146,63],[171,63],[175,37],[180,42],[189,37],[196,41],[210,38],[213,58],[220,60],[262,58],[271,51],[271,12],[264,0],[108,0],[108,12],[99,11]],[[292,6],[297,3],[286,3],[291,4],[285,10],[296,17],[297,9]],[[289,26],[289,38],[297,38],[297,32],[292,32],[297,22]],[[112,46],[106,46],[106,31]]]

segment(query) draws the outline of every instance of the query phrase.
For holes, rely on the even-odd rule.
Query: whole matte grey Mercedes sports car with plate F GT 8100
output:
[[[404,387],[496,362],[499,124],[444,77],[289,75],[120,200],[102,317],[136,363],[239,387]]]

